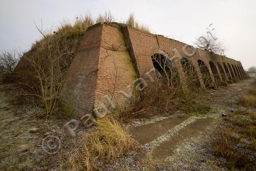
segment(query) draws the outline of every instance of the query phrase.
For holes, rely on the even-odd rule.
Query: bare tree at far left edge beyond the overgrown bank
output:
[[[16,50],[0,52],[0,71],[5,73],[12,73],[19,62]]]

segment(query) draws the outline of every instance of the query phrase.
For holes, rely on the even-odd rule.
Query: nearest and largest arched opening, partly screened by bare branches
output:
[[[161,54],[154,54],[151,56],[154,68],[156,68],[160,74],[164,82],[170,86],[174,84],[178,84],[179,74],[176,70],[176,67],[166,56]]]

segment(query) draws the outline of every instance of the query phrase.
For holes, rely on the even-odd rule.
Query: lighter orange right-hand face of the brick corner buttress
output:
[[[127,99],[119,93],[128,93],[127,86],[136,79],[136,72],[128,53],[122,32],[118,28],[104,24],[98,62],[98,77],[94,107],[100,109],[100,103],[108,106],[105,95],[119,107],[125,107]]]

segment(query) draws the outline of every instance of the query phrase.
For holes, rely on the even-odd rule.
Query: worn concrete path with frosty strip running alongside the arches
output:
[[[189,151],[189,148],[193,148],[193,142],[203,141],[202,137],[209,138],[208,133],[222,121],[222,113],[230,113],[233,109],[241,107],[238,104],[241,93],[255,86],[255,81],[255,78],[251,78],[230,84],[228,87],[206,90],[200,98],[204,103],[211,105],[212,109],[208,113],[182,113],[182,117],[174,115],[133,127],[130,133],[140,144],[150,147],[150,162],[153,164],[171,167],[184,156],[189,163],[196,156],[186,151],[182,156],[180,151],[184,151],[188,146]]]

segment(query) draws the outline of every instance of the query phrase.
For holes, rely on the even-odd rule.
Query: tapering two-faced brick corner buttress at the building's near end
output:
[[[119,93],[128,93],[136,72],[126,48],[122,32],[116,27],[98,24],[88,28],[67,71],[60,91],[64,113],[81,118],[94,108],[108,108],[108,95],[119,107],[128,100]]]

